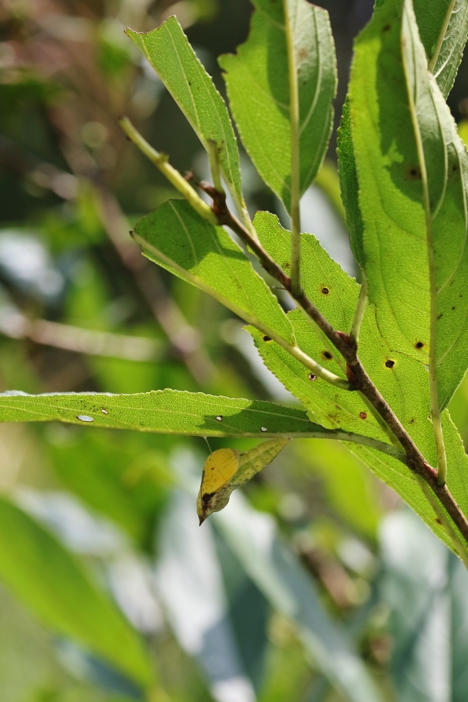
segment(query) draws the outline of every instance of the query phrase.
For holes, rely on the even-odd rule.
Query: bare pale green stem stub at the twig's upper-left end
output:
[[[217,220],[213,215],[213,211],[211,211],[210,206],[201,199],[192,185],[185,180],[184,176],[182,176],[179,171],[169,164],[166,154],[160,154],[158,151],[156,151],[156,149],[149,145],[147,140],[142,137],[137,129],[135,129],[128,117],[121,117],[119,119],[119,125],[126,133],[128,138],[135,144],[135,146],[137,146],[140,151],[145,154],[150,161],[152,161],[156,168],[159,168],[159,171],[161,171],[163,176],[166,176],[169,183],[172,183],[175,189],[185,197],[187,202],[189,202],[194,210],[198,212],[203,219],[207,220],[211,224],[216,224]]]

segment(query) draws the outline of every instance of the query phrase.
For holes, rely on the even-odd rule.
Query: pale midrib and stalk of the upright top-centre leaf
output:
[[[300,131],[299,131],[299,86],[297,85],[297,63],[294,46],[294,32],[291,26],[289,2],[283,0],[286,46],[289,69],[289,110],[291,137],[291,289],[295,295],[302,290],[300,284]]]

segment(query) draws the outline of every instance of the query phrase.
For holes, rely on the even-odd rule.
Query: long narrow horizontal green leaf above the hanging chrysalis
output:
[[[299,409],[201,392],[0,395],[1,422],[51,420],[187,436],[289,438],[326,434],[323,427],[311,423]]]

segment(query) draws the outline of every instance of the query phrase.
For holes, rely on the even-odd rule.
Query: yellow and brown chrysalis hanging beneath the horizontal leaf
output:
[[[210,453],[203,465],[200,491],[196,498],[200,524],[212,512],[222,510],[229,502],[232,491],[271,463],[288,441],[289,439],[272,439],[254,446],[246,453],[235,449],[219,449]]]

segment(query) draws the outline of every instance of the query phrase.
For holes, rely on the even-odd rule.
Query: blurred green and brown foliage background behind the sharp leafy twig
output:
[[[372,2],[322,5],[337,46],[337,123],[352,39]],[[126,141],[120,114],[180,171],[208,173],[123,29],[177,15],[223,91],[216,57],[246,39],[251,9],[247,0],[0,4],[0,391],[175,388],[297,404],[239,319],[128,237],[177,194]],[[468,113],[466,61],[450,106],[457,121]],[[335,144],[334,134],[302,225],[356,275]],[[242,159],[251,214],[284,218]],[[466,381],[450,411],[468,439]],[[32,595],[0,581],[0,702],[466,702],[468,575],[392,491],[341,444],[297,441],[199,529],[194,494],[208,451],[200,438],[0,425],[1,492],[123,613],[157,680],[142,691],[92,644],[37,618],[37,601],[58,597],[60,572],[39,537],[21,542],[12,529],[8,567]],[[39,548],[29,575],[28,548]],[[72,600],[84,621],[86,597]]]

